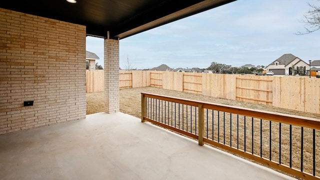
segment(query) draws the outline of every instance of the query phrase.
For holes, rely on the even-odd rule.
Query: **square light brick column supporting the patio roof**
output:
[[[104,39],[104,111],[119,111],[119,40]]]

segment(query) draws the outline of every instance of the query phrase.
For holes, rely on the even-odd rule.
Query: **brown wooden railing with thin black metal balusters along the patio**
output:
[[[149,121],[305,179],[320,179],[320,120],[141,93]]]

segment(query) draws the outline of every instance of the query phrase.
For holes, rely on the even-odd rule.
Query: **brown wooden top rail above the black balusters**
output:
[[[177,98],[177,97],[158,95],[158,94],[152,94],[152,93],[141,92],[141,94],[144,95],[145,97],[157,98],[160,100],[183,103],[183,104],[192,105],[192,106],[198,106],[198,104],[202,104],[202,107],[207,109],[219,110],[219,111],[224,111],[224,112],[229,112],[229,113],[234,113],[239,115],[246,115],[250,117],[261,118],[265,120],[271,120],[271,121],[276,121],[276,122],[281,122],[281,123],[286,123],[291,125],[298,125],[298,126],[320,130],[320,119],[317,119],[317,118],[303,117],[298,115],[289,115],[289,114],[284,114],[280,112],[257,110],[257,109],[251,109],[246,107],[238,107],[238,106],[218,104],[218,103],[205,102],[205,101],[199,101],[199,100],[190,100],[190,99]]]

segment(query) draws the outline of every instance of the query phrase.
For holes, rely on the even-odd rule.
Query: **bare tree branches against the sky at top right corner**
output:
[[[311,7],[311,9],[303,15],[304,19],[301,20],[301,22],[305,23],[305,32],[298,31],[295,33],[297,35],[308,34],[320,29],[320,6],[310,4],[309,2],[308,5]]]

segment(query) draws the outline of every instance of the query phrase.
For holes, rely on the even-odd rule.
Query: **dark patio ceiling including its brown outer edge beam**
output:
[[[234,0],[0,0],[0,7],[86,26],[87,35],[124,38]]]

